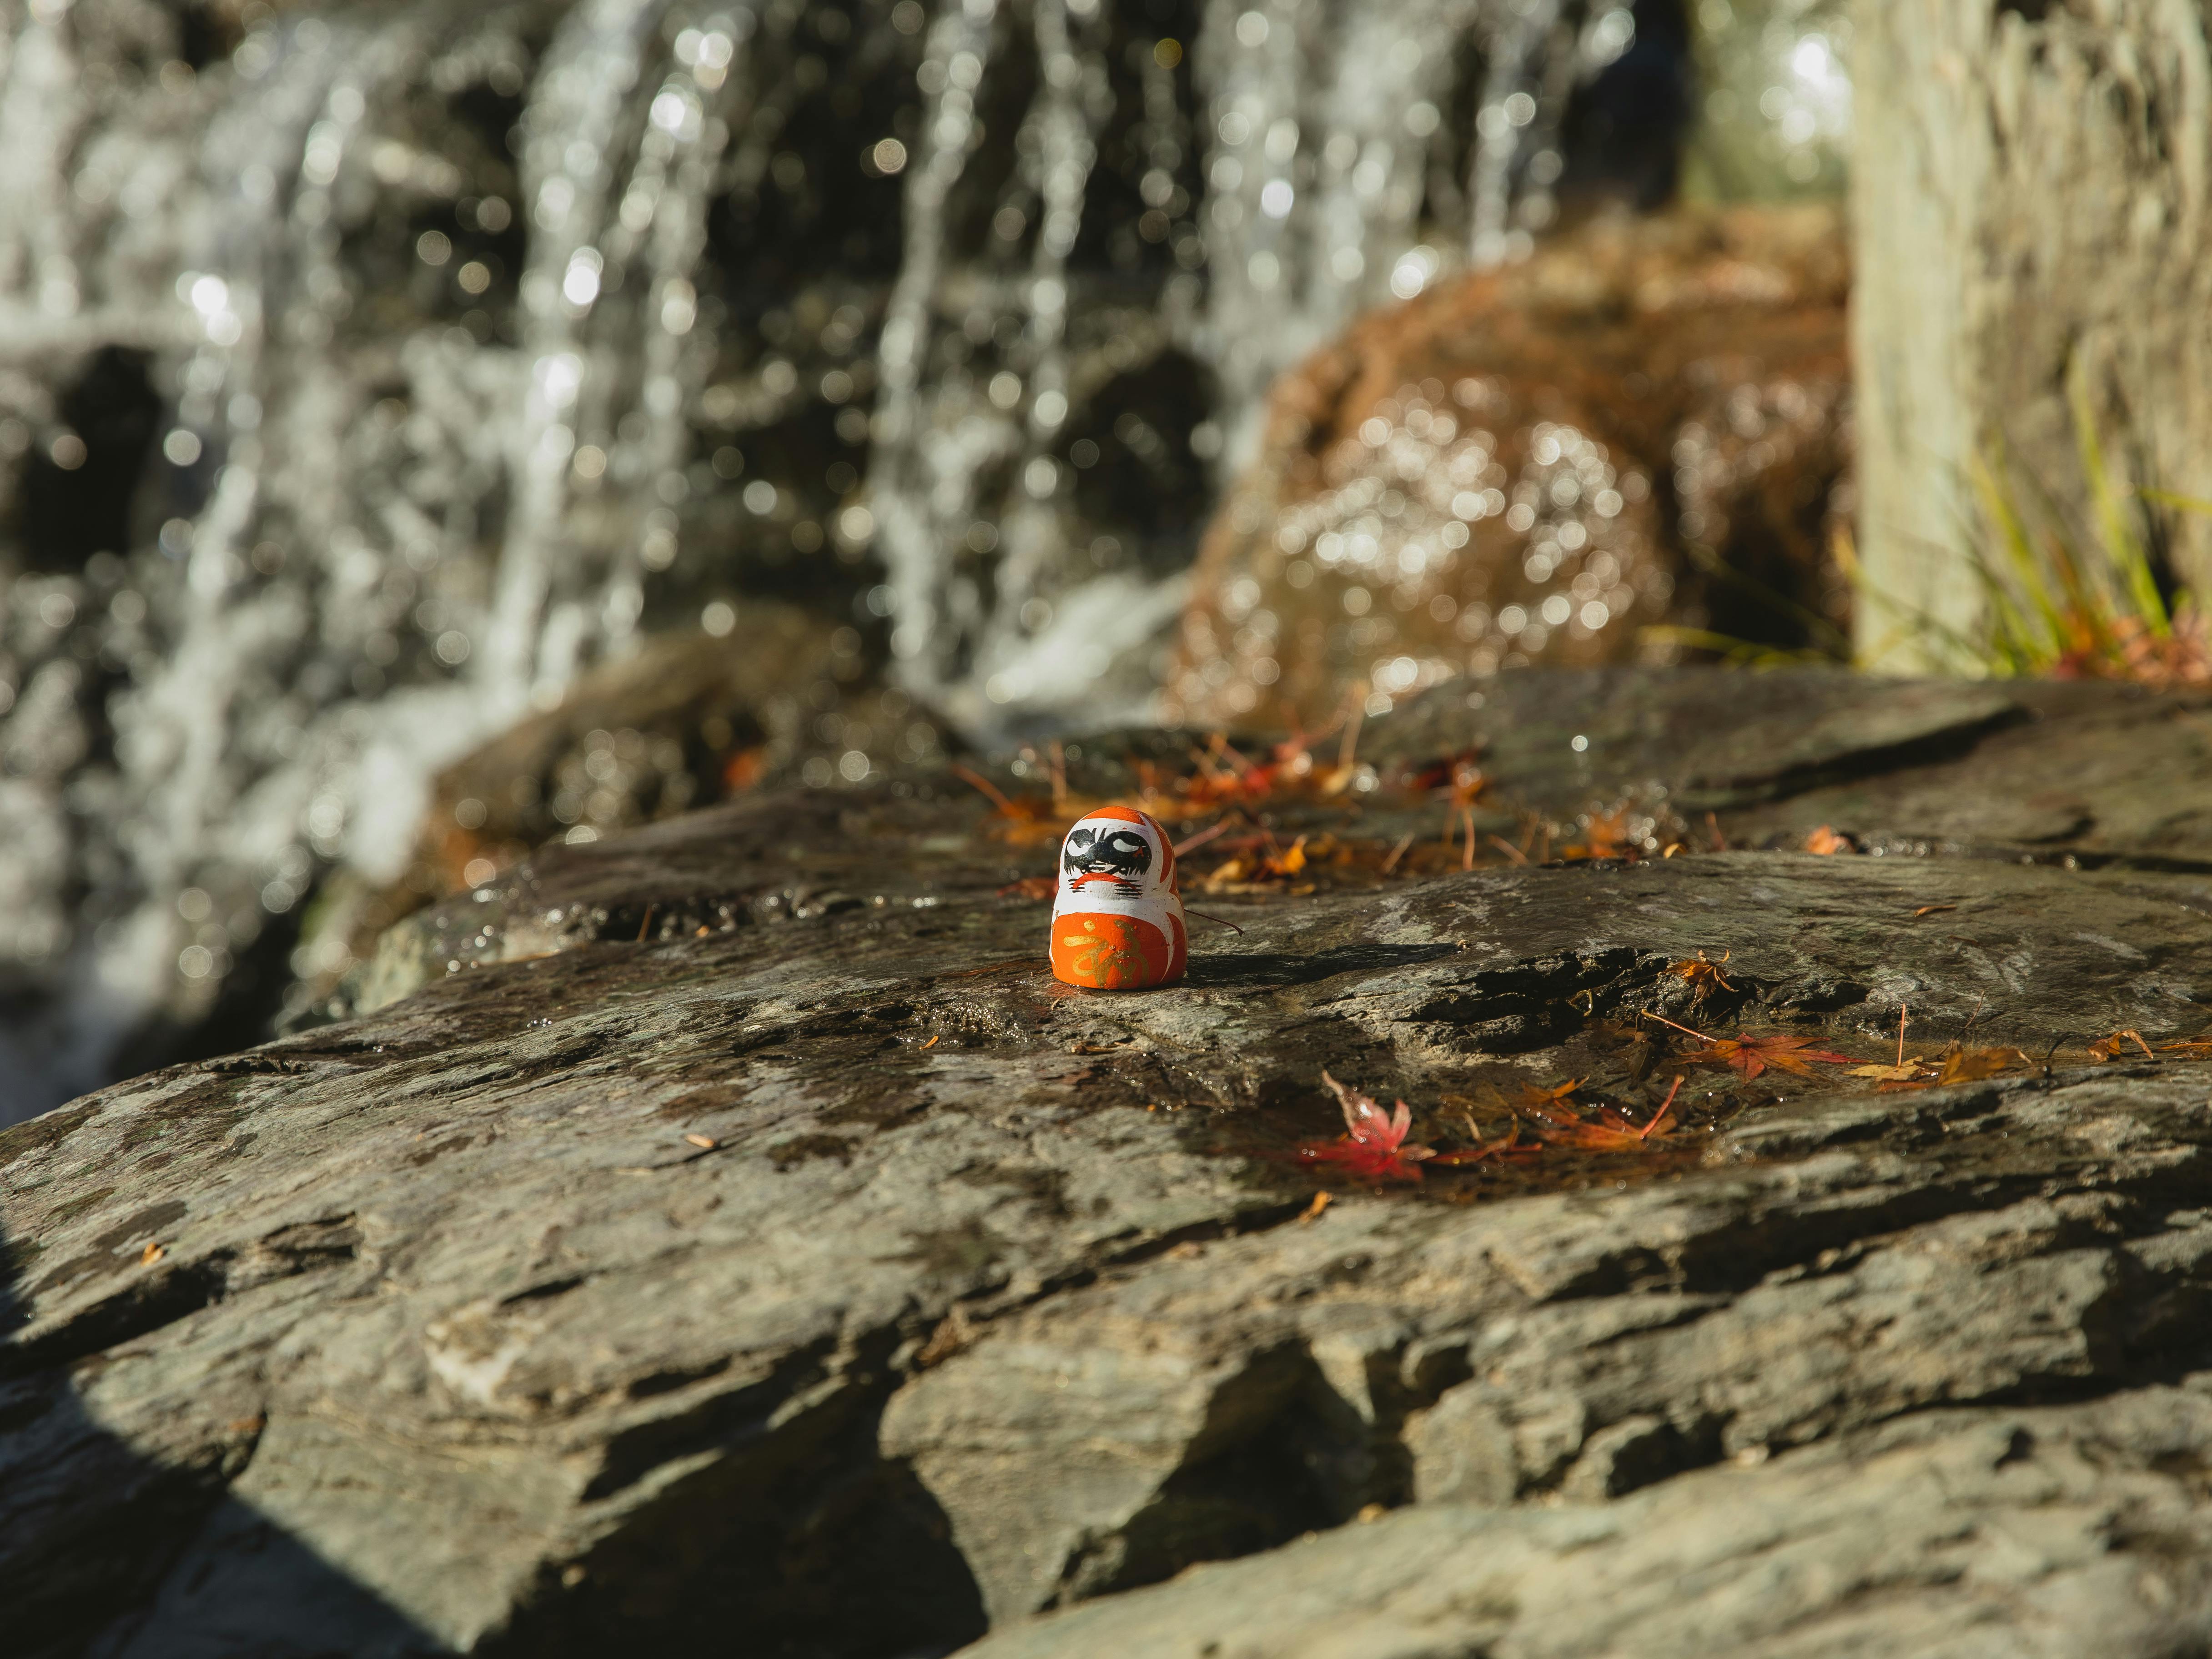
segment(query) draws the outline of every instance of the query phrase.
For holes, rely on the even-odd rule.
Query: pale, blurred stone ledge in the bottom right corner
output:
[[[1418,1504],[989,1637],[973,1659],[2181,1655],[2212,1400],[1938,1409],[1610,1504]]]

